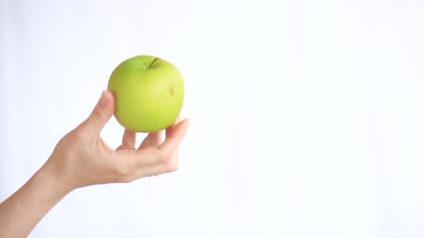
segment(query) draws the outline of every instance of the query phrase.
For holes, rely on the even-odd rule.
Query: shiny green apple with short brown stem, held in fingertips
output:
[[[184,102],[181,72],[156,56],[134,56],[120,63],[107,90],[115,98],[114,117],[132,132],[159,132],[170,127]]]

